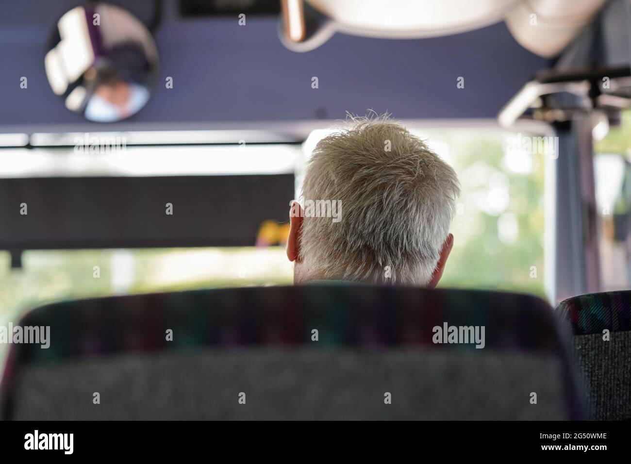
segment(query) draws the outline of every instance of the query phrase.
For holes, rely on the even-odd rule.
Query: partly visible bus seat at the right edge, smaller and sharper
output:
[[[572,297],[555,312],[574,339],[589,418],[631,419],[631,290]]]

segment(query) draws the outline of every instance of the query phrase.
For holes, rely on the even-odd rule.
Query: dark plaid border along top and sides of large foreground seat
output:
[[[432,343],[433,326],[485,326],[485,349]],[[39,307],[22,326],[50,326],[50,348],[12,345],[3,376],[3,417],[24,366],[122,353],[196,352],[204,347],[380,349],[424,347],[540,354],[560,359],[569,417],[580,406],[550,306],[528,295],[366,285],[251,287],[129,295]],[[173,331],[167,341],[165,332]]]

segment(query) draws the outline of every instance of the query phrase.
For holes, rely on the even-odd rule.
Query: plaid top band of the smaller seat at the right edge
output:
[[[631,290],[572,297],[555,312],[575,335],[631,330]]]

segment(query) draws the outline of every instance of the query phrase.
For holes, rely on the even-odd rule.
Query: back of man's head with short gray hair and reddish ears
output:
[[[294,282],[435,286],[453,245],[456,172],[387,117],[353,118],[307,162],[305,201],[339,201],[341,218],[290,210]],[[322,215],[321,215],[322,216]]]

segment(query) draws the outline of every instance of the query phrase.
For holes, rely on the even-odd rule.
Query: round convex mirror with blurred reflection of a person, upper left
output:
[[[44,64],[66,108],[89,121],[115,122],[149,100],[158,52],[141,21],[97,3],[73,8],[57,21]]]

